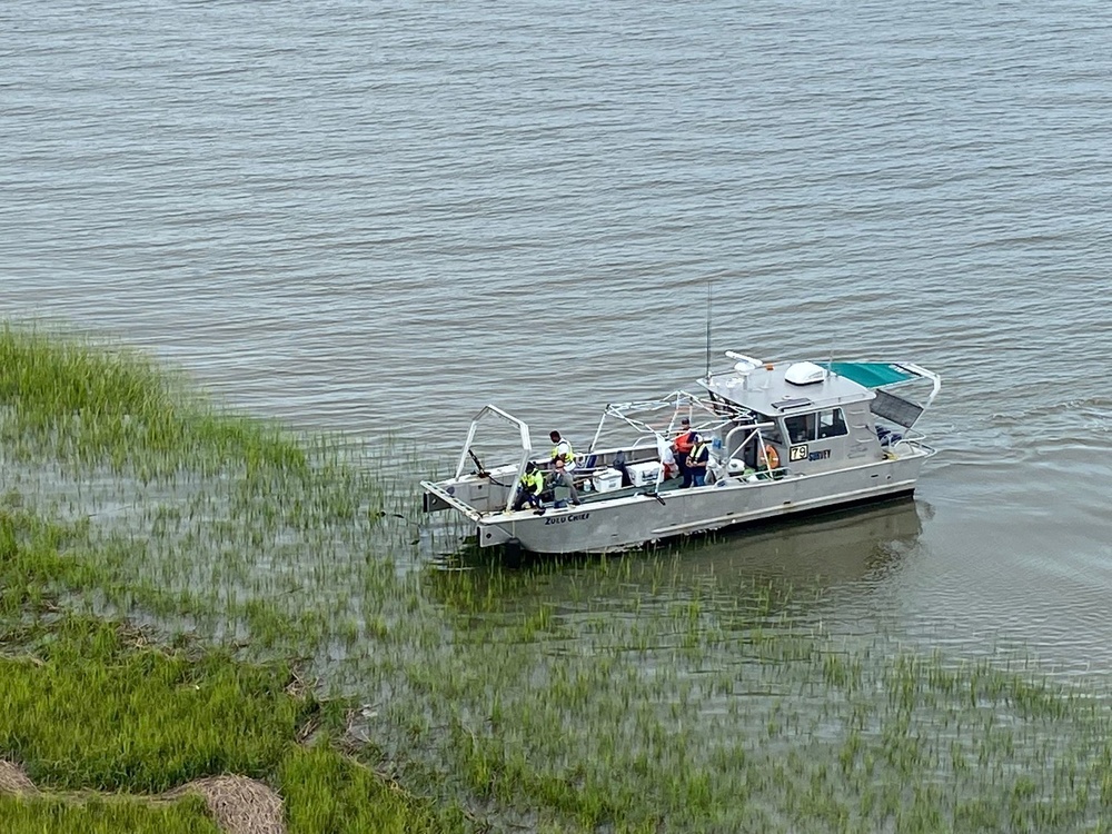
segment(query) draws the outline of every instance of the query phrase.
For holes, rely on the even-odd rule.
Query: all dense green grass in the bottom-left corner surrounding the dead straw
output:
[[[13,636],[24,653],[0,657],[0,749],[46,793],[0,796],[6,832],[216,831],[196,797],[126,794],[224,773],[277,788],[295,834],[464,830],[458,810],[431,808],[334,749],[340,705],[298,692],[282,664],[157,648],[82,617]],[[299,743],[309,731],[312,747]]]

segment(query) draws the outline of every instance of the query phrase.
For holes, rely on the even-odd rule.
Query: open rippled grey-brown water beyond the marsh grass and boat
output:
[[[943,377],[916,499],[729,537],[825,616],[1112,668],[1103,3],[8,0],[0,317],[454,459],[712,347]],[[555,417],[554,415],[558,415]],[[423,473],[414,471],[416,478]]]

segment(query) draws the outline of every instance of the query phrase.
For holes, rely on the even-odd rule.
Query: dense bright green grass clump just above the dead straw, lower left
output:
[[[64,618],[33,658],[0,658],[0,749],[39,785],[161,793],[212,773],[261,778],[318,711],[281,665],[136,652],[110,623]]]

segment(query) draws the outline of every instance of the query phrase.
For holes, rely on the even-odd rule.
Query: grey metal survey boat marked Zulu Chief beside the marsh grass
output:
[[[575,449],[578,505],[557,481],[540,508],[515,508],[527,467],[548,469],[552,455],[538,454],[524,420],[487,405],[454,475],[421,481],[424,510],[460,514],[480,548],[599,554],[914,492],[935,454],[915,426],[939,375],[907,361],[725,356],[732,365],[708,363],[694,391],[603,409]],[[675,465],[684,418],[709,446],[703,486],[684,488]]]

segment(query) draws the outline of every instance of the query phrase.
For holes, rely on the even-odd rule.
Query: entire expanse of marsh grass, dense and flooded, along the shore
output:
[[[57,337],[6,328],[0,357],[0,755],[48,784],[235,770],[291,831],[1108,830],[1102,693],[832,635],[821,589],[682,554],[423,567],[414,453],[295,440]]]

